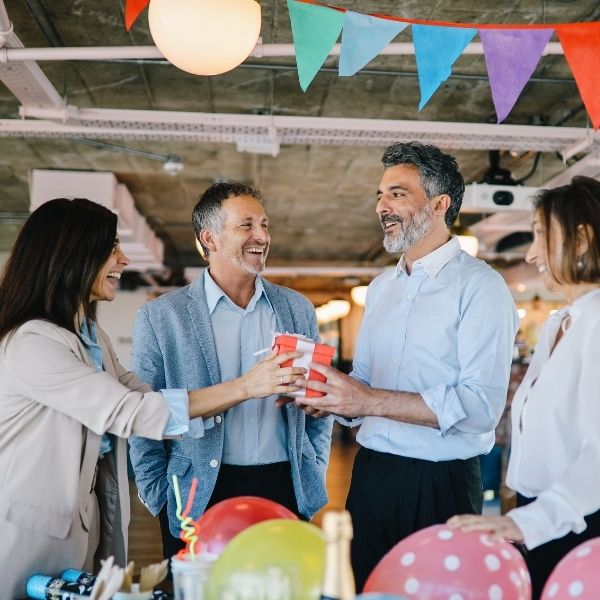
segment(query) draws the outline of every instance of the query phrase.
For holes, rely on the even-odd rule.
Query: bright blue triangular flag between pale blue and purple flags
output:
[[[421,110],[440,84],[450,77],[452,65],[475,37],[477,29],[413,25],[412,31],[421,88]]]

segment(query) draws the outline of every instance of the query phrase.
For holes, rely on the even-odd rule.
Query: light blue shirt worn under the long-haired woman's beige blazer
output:
[[[80,333],[81,339],[83,340],[88,352],[88,356],[92,360],[96,370],[104,371],[104,366],[102,364],[102,348],[98,344],[98,336],[96,335],[96,325],[94,321],[88,321],[87,319],[84,319],[81,325]],[[199,437],[198,435],[194,434],[193,428],[190,427],[190,423],[193,423],[193,421],[196,421],[197,419],[194,419],[192,422],[190,422],[187,391],[183,389],[173,389],[161,390],[161,393],[165,398],[169,410],[171,411],[171,417],[169,418],[164,431],[165,437],[179,436],[184,433],[188,433],[188,430],[190,430],[190,435],[192,435],[192,437]],[[112,442],[110,438],[111,435],[109,433],[105,433],[102,436],[99,452],[100,457],[112,450]]]

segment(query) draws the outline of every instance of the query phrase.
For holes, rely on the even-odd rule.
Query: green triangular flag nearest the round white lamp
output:
[[[344,13],[294,0],[288,0],[288,11],[292,22],[298,79],[305,92],[340,35]]]

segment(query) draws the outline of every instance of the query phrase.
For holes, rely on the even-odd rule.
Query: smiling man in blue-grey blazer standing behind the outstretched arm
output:
[[[155,390],[207,392],[205,415],[190,424],[193,435],[130,439],[139,496],[160,515],[165,557],[183,547],[173,475],[184,496],[198,479],[194,519],[235,496],[268,498],[306,519],[327,502],[331,420],[278,400],[298,389],[294,380],[305,369],[281,365],[300,354],[257,358],[276,331],[319,335],[313,305],[260,276],[270,244],[261,195],[243,183],[216,183],[192,220],[208,269],[144,305],[133,336],[133,370]]]

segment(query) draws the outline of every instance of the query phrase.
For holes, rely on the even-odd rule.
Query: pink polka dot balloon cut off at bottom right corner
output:
[[[577,546],[548,578],[542,600],[598,600],[600,598],[600,538]]]

